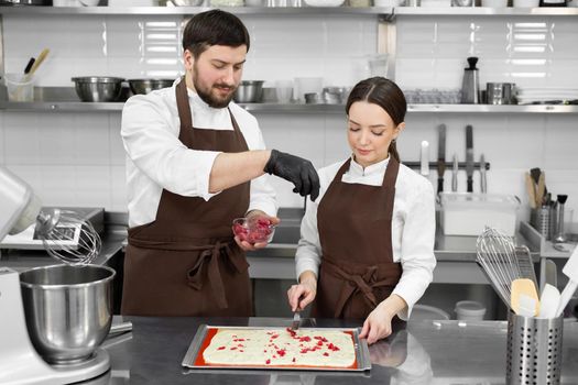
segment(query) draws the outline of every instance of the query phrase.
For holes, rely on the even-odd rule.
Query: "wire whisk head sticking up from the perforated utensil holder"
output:
[[[486,227],[476,243],[477,262],[504,304],[511,308],[512,280],[524,277],[511,237]]]

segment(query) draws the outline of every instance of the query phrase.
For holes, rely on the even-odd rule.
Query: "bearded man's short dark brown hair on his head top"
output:
[[[183,50],[190,51],[198,58],[211,45],[247,45],[249,52],[249,32],[243,22],[232,13],[221,10],[197,13],[183,31]]]

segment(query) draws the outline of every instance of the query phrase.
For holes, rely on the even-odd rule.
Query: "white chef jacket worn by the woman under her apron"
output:
[[[319,197],[316,201],[309,199],[301,223],[301,240],[295,254],[297,279],[305,271],[312,271],[317,276],[319,274],[321,245],[317,229],[317,208],[343,162],[318,170]],[[341,182],[381,186],[388,163],[389,158],[363,168],[351,158],[349,170],[343,174]],[[393,262],[401,262],[403,267],[400,282],[392,294],[402,297],[408,307],[408,312],[400,314],[402,319],[407,319],[413,306],[433,279],[436,266],[435,232],[435,196],[432,184],[407,166],[400,164],[395,180],[391,237]]]

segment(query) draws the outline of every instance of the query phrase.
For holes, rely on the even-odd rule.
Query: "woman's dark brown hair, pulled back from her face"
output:
[[[367,101],[380,106],[389,113],[395,125],[405,119],[405,112],[407,110],[405,96],[395,82],[384,77],[370,77],[358,82],[347,98],[347,114],[349,114],[349,109],[356,101]],[[397,153],[395,141],[391,142],[389,152],[400,162],[400,154]]]

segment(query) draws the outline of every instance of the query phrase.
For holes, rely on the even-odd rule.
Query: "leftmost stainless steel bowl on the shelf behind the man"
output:
[[[83,101],[117,101],[124,79],[110,76],[73,77],[76,94]]]

